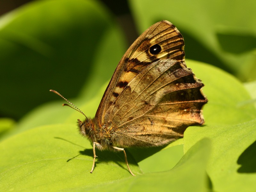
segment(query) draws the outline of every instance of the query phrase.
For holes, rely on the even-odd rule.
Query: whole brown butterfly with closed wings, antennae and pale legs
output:
[[[79,132],[96,151],[166,145],[188,126],[204,124],[204,84],[185,63],[184,39],[163,20],[149,27],[125,52],[108,84],[94,118],[78,119]],[[63,104],[68,105],[68,104]],[[69,106],[69,105],[68,105]],[[71,107],[71,106],[70,106]]]

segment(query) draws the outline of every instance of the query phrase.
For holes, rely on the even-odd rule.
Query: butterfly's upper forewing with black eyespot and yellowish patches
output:
[[[152,54],[150,47],[156,44],[161,47],[161,51]],[[177,60],[186,67],[183,37],[169,21],[160,21],[148,28],[135,40],[120,60],[95,115],[100,127],[111,124],[113,117],[111,110],[132,79],[153,62],[164,58]]]

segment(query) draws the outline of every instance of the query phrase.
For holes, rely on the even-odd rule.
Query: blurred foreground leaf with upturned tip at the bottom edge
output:
[[[210,142],[196,143],[170,171],[147,173],[97,188],[104,191],[206,191],[209,183],[205,172]],[[96,191],[96,190],[92,190]],[[207,190],[208,191],[208,190]]]

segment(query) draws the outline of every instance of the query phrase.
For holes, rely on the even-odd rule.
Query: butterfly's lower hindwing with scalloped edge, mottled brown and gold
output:
[[[146,83],[145,83],[146,82]],[[158,146],[203,124],[204,86],[192,71],[172,59],[158,60],[134,77],[109,108],[118,146]]]

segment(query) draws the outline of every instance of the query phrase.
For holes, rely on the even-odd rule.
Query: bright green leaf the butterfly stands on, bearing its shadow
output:
[[[78,134],[76,123],[42,126],[14,135],[1,142],[0,153],[3,191],[79,189],[132,177],[122,152],[98,150],[91,174],[92,145]],[[127,156],[132,171],[140,173],[129,153]]]

